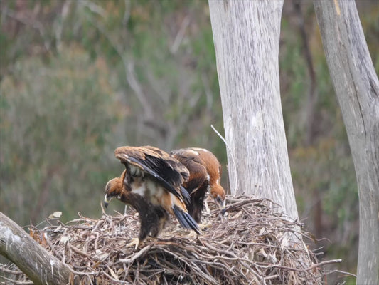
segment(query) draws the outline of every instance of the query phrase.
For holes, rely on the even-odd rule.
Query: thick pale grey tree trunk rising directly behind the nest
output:
[[[283,1],[209,0],[233,195],[265,197],[296,219],[279,90]]]

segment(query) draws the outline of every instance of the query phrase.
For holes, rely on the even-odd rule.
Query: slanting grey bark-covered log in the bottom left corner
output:
[[[70,270],[0,212],[0,254],[11,260],[34,284],[68,284]]]

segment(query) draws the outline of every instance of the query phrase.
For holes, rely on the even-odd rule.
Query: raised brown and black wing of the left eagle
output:
[[[159,148],[145,147],[118,147],[114,150],[117,157],[125,167],[137,167],[144,174],[154,177],[166,190],[188,204],[190,197],[181,186],[189,177],[189,172],[181,162],[170,157],[167,152]]]

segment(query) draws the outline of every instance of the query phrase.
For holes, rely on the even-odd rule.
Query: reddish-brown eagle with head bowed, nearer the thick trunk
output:
[[[215,202],[225,212],[225,190],[220,185],[221,165],[217,157],[209,150],[198,147],[172,150],[171,157],[180,161],[189,171],[188,180],[183,181],[183,187],[191,195],[188,213],[196,222],[201,220],[205,194],[210,192]]]

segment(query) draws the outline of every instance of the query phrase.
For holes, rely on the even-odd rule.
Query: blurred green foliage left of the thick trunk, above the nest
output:
[[[216,154],[225,159],[210,129],[213,123],[222,130],[223,123],[206,3],[40,4],[1,4],[11,11],[1,14],[4,23],[22,26],[0,33],[6,46],[0,86],[4,212],[21,224],[55,210],[63,218],[98,214],[105,183],[122,171],[113,157],[119,145],[219,145]],[[23,14],[34,16],[24,21]],[[181,26],[186,17],[191,25]],[[171,51],[181,28],[183,38]],[[146,125],[132,76],[152,110],[148,123],[162,130]]]

